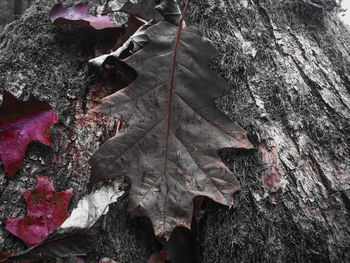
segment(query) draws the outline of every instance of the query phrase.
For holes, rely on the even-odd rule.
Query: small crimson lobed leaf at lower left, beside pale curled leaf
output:
[[[23,189],[22,194],[28,214],[25,218],[6,218],[5,228],[30,247],[43,241],[67,219],[72,190],[57,193],[50,179],[43,176],[38,177],[34,190]]]

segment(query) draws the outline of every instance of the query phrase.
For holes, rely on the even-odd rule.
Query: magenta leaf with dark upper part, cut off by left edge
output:
[[[0,157],[5,172],[14,175],[22,167],[25,150],[37,140],[50,145],[50,127],[57,122],[57,113],[46,102],[32,94],[20,101],[4,92],[0,107]]]

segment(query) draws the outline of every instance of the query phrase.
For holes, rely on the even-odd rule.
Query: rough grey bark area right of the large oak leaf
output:
[[[209,204],[203,262],[347,262],[349,32],[331,1],[192,1],[232,84],[218,103],[254,152],[222,157],[242,192]]]

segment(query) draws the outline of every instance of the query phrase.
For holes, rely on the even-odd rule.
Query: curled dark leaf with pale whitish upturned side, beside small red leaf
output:
[[[98,239],[101,223],[108,212],[109,205],[118,200],[124,191],[120,182],[103,186],[82,198],[71,216],[55,229],[43,242],[16,253],[13,260],[35,260],[70,258],[74,262],[76,256],[86,255],[93,250]],[[66,262],[66,261],[65,261]]]

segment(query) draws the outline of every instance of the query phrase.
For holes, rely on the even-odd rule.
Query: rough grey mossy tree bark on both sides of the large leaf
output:
[[[20,189],[36,175],[74,189],[71,211],[87,192],[87,159],[116,129],[116,120],[88,113],[96,87],[86,62],[96,43],[87,40],[96,33],[51,25],[53,3],[36,1],[0,36],[0,92],[33,92],[59,115],[51,148],[32,143],[14,180],[0,168],[1,218],[25,215]],[[205,202],[200,261],[348,262],[350,33],[335,2],[191,0],[188,15],[222,54],[212,66],[232,92],[218,105],[256,146],[220,151],[242,191],[230,209]],[[87,262],[147,262],[159,249],[150,223],[130,221],[126,205],[125,197],[112,206]],[[0,250],[23,247],[2,224]]]

